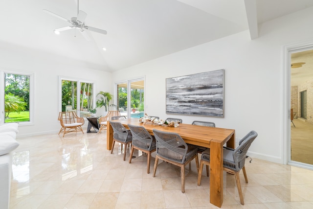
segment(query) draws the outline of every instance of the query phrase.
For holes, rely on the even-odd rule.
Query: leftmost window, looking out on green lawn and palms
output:
[[[30,122],[30,75],[4,72],[4,123]]]

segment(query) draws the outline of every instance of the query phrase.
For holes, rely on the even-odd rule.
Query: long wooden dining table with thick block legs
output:
[[[157,125],[151,122],[142,123],[138,118],[118,120],[125,128],[128,124],[144,126],[153,134],[153,129],[174,132],[180,135],[186,143],[210,148],[210,203],[221,208],[223,204],[223,145],[235,148],[235,130],[206,127],[181,123],[178,127]],[[113,129],[110,121],[107,124],[107,149],[110,150],[113,141]]]

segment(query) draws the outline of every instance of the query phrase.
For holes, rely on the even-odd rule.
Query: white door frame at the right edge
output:
[[[291,53],[313,47],[313,39],[283,47],[282,163],[313,169],[306,163],[291,161]]]

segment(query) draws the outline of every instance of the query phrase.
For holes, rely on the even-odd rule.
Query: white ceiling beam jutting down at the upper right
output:
[[[259,37],[256,0],[245,0],[245,6],[246,18],[248,20],[248,27],[250,31],[250,38],[251,40],[253,40]]]

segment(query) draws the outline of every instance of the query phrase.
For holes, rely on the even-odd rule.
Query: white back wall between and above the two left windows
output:
[[[111,73],[93,70],[88,63],[8,43],[0,43],[0,46],[0,71],[33,72],[35,75],[34,101],[31,103],[35,109],[34,124],[24,126],[21,123],[19,137],[59,132],[59,76],[94,81],[96,93],[111,91]],[[101,115],[101,111],[97,114]],[[85,124],[87,126],[87,122]]]

